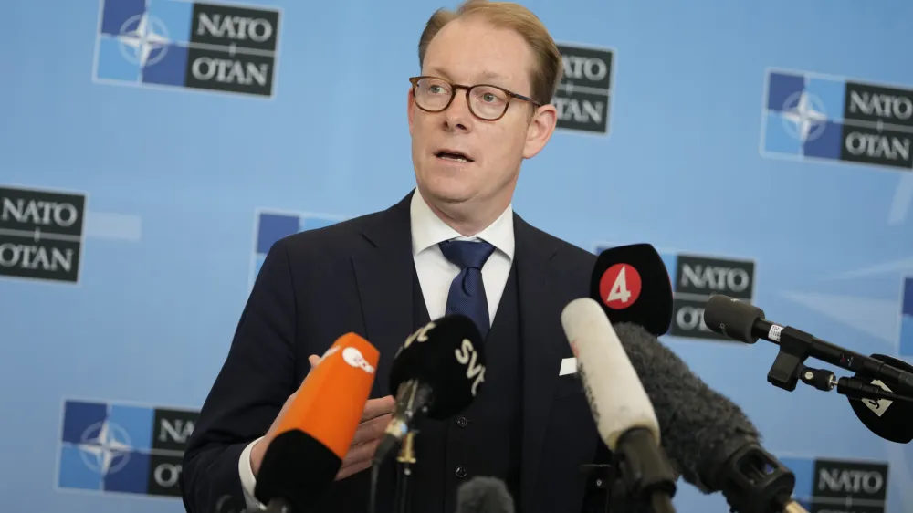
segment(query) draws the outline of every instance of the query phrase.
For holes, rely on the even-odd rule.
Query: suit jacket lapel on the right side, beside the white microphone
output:
[[[552,396],[561,368],[566,344],[555,293],[554,259],[557,247],[515,216],[517,245],[519,317],[523,335],[523,448],[520,509],[535,508],[536,479],[540,476],[540,456],[549,424]],[[544,484],[543,484],[544,485]]]

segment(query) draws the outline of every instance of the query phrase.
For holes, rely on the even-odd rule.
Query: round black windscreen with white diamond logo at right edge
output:
[[[902,371],[913,372],[913,366],[906,361],[884,354],[873,354],[872,358],[884,361]],[[906,395],[906,391],[898,387],[897,383],[872,380],[858,372],[855,377],[883,389],[887,387],[889,392]],[[913,440],[913,423],[910,422],[910,419],[913,419],[913,403],[891,401],[890,399],[849,399],[849,401],[856,417],[872,433],[897,444],[909,444]]]

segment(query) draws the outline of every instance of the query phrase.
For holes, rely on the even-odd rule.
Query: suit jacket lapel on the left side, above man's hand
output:
[[[412,194],[376,216],[362,236],[368,246],[352,255],[365,338],[381,353],[372,397],[390,391],[394,354],[413,330]]]

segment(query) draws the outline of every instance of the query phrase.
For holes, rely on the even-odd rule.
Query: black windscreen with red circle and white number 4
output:
[[[672,324],[672,280],[649,244],[615,246],[596,258],[590,281],[595,299],[614,324],[632,322],[656,336]]]

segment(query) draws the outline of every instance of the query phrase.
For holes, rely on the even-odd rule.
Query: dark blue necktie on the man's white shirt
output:
[[[482,266],[495,251],[485,241],[448,240],[438,244],[441,253],[461,270],[450,284],[446,315],[463,314],[476,321],[478,332],[485,340],[490,328],[488,299],[482,283]]]

